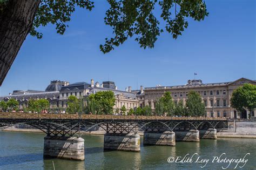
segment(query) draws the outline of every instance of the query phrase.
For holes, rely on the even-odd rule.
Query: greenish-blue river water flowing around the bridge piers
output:
[[[200,142],[177,142],[176,146],[143,146],[141,151],[103,152],[103,135],[84,135],[85,161],[43,159],[43,133],[0,132],[0,169],[234,169],[237,163],[220,162],[242,159],[237,166],[256,169],[256,139],[219,138]],[[192,155],[195,154],[193,157]],[[224,155],[223,153],[226,153]],[[187,157],[185,157],[186,154]],[[220,157],[220,155],[223,156]],[[169,157],[177,162],[169,163]],[[185,159],[183,159],[185,157]],[[192,158],[191,158],[192,157]],[[199,158],[200,157],[200,158]],[[213,161],[213,157],[215,158]],[[191,159],[188,159],[191,158]],[[198,159],[199,158],[199,159]],[[182,159],[188,162],[182,161]],[[208,162],[199,163],[204,160]],[[169,159],[171,161],[172,158]],[[52,163],[53,161],[53,163]],[[189,162],[190,161],[190,162]],[[196,162],[197,161],[197,162]],[[213,161],[213,162],[212,162]],[[184,162],[184,163],[183,163]],[[228,166],[229,165],[229,166]],[[204,168],[201,168],[201,166]]]

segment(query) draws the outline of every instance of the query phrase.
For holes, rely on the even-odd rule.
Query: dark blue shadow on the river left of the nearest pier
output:
[[[0,157],[0,167],[4,165],[22,164],[24,162],[35,162],[43,159],[42,154],[23,154]]]

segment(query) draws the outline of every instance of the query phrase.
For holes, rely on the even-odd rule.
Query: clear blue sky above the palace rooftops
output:
[[[209,16],[201,22],[188,19],[188,28],[177,39],[162,33],[153,49],[144,50],[132,37],[107,54],[99,45],[112,36],[111,27],[104,24],[109,5],[95,0],[92,11],[77,8],[64,35],[48,25],[39,28],[42,39],[26,37],[0,96],[13,90],[44,91],[51,80],[110,80],[120,90],[184,85],[194,73],[203,83],[255,80],[255,1],[205,2]]]

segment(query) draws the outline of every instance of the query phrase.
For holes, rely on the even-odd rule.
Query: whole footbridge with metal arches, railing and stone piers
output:
[[[217,130],[227,128],[227,118],[159,117],[137,115],[0,113],[0,127],[30,125],[44,133],[44,157],[84,160],[80,132],[104,130],[104,149],[140,151],[144,145],[175,146],[176,141],[217,139]]]

